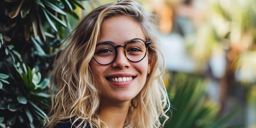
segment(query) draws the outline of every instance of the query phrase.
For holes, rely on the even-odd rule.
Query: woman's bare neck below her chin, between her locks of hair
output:
[[[99,116],[110,128],[123,128],[130,101],[113,102],[102,99],[99,107]]]

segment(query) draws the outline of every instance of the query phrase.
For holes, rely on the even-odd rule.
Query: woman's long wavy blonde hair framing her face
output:
[[[90,124],[95,128],[108,128],[98,115],[100,90],[94,83],[90,61],[102,23],[117,15],[129,16],[141,25],[146,40],[151,40],[148,56],[153,61],[144,88],[131,101],[124,126],[160,128],[168,120],[166,112],[170,103],[162,79],[165,68],[164,65],[161,68],[159,65],[159,55],[163,57],[163,54],[158,47],[158,31],[153,24],[155,18],[152,18],[154,15],[145,13],[138,2],[123,0],[92,10],[64,40],[68,45],[61,51],[52,76],[51,87],[56,85],[58,92],[55,98],[52,94],[52,108],[47,118],[47,127],[52,128],[69,119],[72,124],[78,122],[78,127],[85,128],[86,124]]]

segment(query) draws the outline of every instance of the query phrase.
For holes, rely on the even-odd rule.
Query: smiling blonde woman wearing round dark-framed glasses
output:
[[[102,5],[81,19],[58,59],[47,127],[164,125],[170,106],[153,19],[132,0]]]

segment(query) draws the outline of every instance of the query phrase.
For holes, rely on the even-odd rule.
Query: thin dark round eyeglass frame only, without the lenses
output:
[[[145,58],[147,52],[148,52],[148,45],[150,45],[151,40],[146,40],[146,41],[145,41],[145,40],[143,40],[143,39],[141,39],[141,38],[133,38],[133,39],[128,40],[125,45],[117,45],[117,46],[115,46],[115,45],[113,45],[112,43],[109,43],[109,42],[102,42],[102,43],[97,44],[96,47],[97,47],[98,45],[100,45],[100,44],[107,43],[107,44],[112,45],[112,46],[115,48],[115,52],[116,52],[115,58],[114,58],[113,61],[111,61],[110,63],[114,62],[115,59],[117,58],[117,48],[123,47],[123,48],[124,48],[124,55],[125,55],[125,57],[126,57],[129,61],[131,61],[131,60],[126,56],[125,49],[126,49],[126,45],[127,45],[130,41],[132,41],[132,40],[141,40],[142,42],[145,43],[146,52],[145,52],[144,57],[141,58],[141,60],[143,60],[143,59]],[[95,60],[97,63],[99,63],[99,62],[96,60],[96,58],[94,57],[94,55],[93,55],[93,58],[94,58],[94,60]],[[141,61],[141,60],[139,60],[139,61]],[[139,62],[139,61],[131,61],[131,62]],[[101,65],[109,65],[110,63],[108,63],[108,64],[101,64],[101,63],[99,63],[99,64],[101,64]]]

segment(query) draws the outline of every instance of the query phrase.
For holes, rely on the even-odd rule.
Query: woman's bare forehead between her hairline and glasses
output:
[[[100,38],[97,42],[126,43],[132,38],[145,40],[141,25],[129,16],[113,16],[102,23]]]

